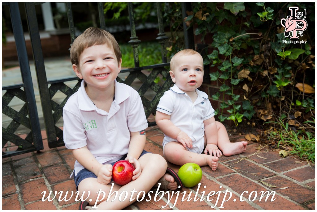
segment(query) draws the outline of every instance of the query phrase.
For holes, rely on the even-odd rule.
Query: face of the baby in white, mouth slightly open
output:
[[[200,55],[182,55],[176,58],[173,70],[170,71],[172,81],[182,91],[192,92],[200,87],[204,78],[204,61]]]

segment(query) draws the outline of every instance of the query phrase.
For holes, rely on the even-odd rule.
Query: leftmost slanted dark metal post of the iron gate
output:
[[[10,2],[10,16],[14,39],[16,42],[16,51],[19,59],[19,65],[22,74],[23,89],[26,96],[26,105],[29,111],[30,129],[33,137],[34,146],[37,151],[43,149],[41,127],[37,114],[36,100],[34,95],[31,70],[29,65],[28,53],[24,39],[22,21],[19,5],[17,2]]]

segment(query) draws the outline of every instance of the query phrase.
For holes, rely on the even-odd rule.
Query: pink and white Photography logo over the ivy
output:
[[[299,36],[302,37],[303,31],[307,29],[306,9],[304,9],[305,12],[298,12],[298,7],[289,7],[288,9],[291,11],[291,15],[282,18],[281,24],[285,27],[285,37],[289,37],[291,40],[283,40],[283,43],[306,43],[307,41],[294,40],[299,39]]]

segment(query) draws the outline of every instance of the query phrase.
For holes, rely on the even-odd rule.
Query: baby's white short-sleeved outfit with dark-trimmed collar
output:
[[[204,151],[204,123],[203,121],[215,115],[208,95],[196,89],[197,99],[192,103],[191,98],[174,84],[166,91],[159,101],[157,111],[171,115],[171,122],[184,131],[192,140],[191,152]],[[164,134],[163,148],[166,143],[175,139]]]

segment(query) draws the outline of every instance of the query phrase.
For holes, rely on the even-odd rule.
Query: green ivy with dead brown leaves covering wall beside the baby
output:
[[[314,29],[313,33],[305,31],[305,45],[291,44],[280,27],[290,6],[306,8],[308,25],[314,26],[314,17],[309,15],[314,4],[310,3],[192,3],[187,25],[201,43],[212,37],[207,47],[213,50],[206,54],[204,64],[210,64],[210,79],[219,84],[219,91],[211,97],[221,102],[216,110],[220,121],[232,120],[237,125],[255,118],[289,117],[303,110],[314,116],[307,102],[314,102],[313,94],[301,95],[294,88],[296,82],[314,86],[315,62],[310,51]],[[293,107],[296,100],[297,107]]]

